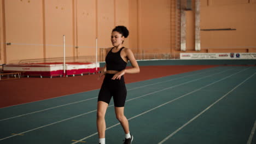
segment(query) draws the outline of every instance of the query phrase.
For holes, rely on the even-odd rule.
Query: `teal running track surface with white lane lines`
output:
[[[126,85],[134,143],[256,143],[256,67],[214,67]],[[97,94],[0,109],[0,143],[98,143]],[[106,143],[122,143],[113,100]]]

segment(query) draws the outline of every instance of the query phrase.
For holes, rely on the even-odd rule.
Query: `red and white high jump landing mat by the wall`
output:
[[[65,64],[65,74],[63,63],[30,63],[30,64],[7,64],[3,65],[4,73],[21,72],[24,76],[68,76],[94,74],[100,70],[100,63],[80,63],[68,62]]]

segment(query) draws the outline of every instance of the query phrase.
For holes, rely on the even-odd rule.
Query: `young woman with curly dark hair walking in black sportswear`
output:
[[[133,136],[130,134],[129,122],[124,115],[126,99],[126,87],[124,74],[139,73],[138,63],[132,51],[123,47],[125,38],[129,31],[124,26],[117,26],[113,29],[111,42],[114,47],[107,49],[106,65],[101,70],[100,77],[105,75],[100,93],[98,94],[97,105],[97,130],[99,143],[105,144],[105,114],[111,97],[114,99],[115,115],[121,123],[125,132],[125,144],[132,143]],[[125,69],[127,62],[130,61],[132,68]]]

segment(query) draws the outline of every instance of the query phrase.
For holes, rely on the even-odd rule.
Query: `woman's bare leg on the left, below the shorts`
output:
[[[98,138],[105,138],[106,131],[106,122],[105,122],[105,114],[108,108],[108,104],[104,101],[98,101],[97,106],[97,130],[98,130]]]

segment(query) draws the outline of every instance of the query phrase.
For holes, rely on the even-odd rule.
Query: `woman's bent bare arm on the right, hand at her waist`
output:
[[[120,71],[119,73],[115,74],[112,77],[113,80],[115,80],[115,79],[120,80],[121,76],[124,75],[125,73],[127,73],[127,74],[139,73],[139,66],[138,66],[138,63],[137,63],[132,51],[130,49],[126,49],[125,52],[126,52],[127,58],[129,59],[131,65],[132,65],[132,68],[124,69],[124,70]]]

